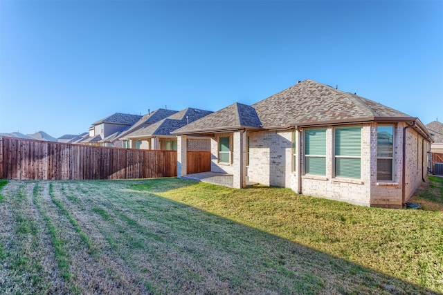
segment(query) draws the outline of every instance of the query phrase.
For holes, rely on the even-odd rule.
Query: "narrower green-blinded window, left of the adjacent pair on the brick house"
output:
[[[326,175],[326,129],[305,131],[305,173]]]

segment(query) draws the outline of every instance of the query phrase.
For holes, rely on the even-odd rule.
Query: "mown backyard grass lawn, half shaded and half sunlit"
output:
[[[175,178],[0,180],[4,294],[438,294],[443,178],[424,210]]]

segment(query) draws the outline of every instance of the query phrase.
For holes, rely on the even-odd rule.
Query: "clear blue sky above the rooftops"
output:
[[[0,132],[217,111],[304,79],[443,122],[443,1],[0,0]]]

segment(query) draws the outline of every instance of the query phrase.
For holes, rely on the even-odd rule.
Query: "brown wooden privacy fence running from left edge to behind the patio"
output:
[[[210,171],[210,153],[192,154],[193,171]],[[201,153],[201,155],[199,155]],[[203,164],[205,162],[207,164]],[[195,162],[192,162],[195,161]],[[193,172],[193,173],[197,173]],[[0,178],[98,180],[177,176],[177,151],[116,149],[0,137]]]

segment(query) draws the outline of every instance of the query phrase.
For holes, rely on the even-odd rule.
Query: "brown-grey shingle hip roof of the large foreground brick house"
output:
[[[244,120],[242,120],[244,119]],[[415,118],[388,106],[307,79],[252,106],[231,104],[174,134],[210,133],[235,129],[289,129],[293,126],[412,121]]]

